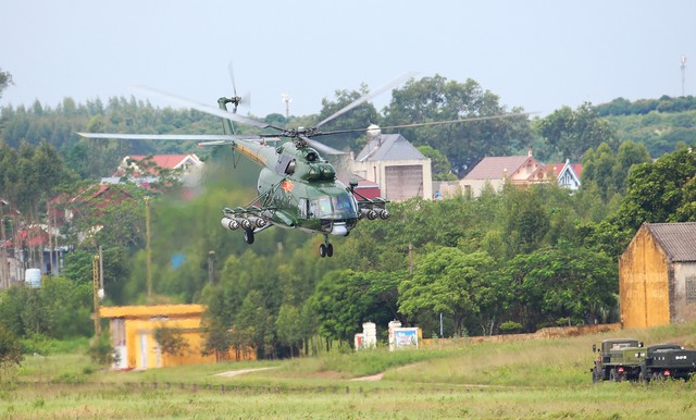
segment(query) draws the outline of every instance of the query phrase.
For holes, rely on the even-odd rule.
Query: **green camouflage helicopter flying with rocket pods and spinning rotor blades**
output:
[[[229,231],[241,231],[247,244],[253,244],[256,234],[274,225],[286,228],[298,228],[310,233],[320,233],[324,235],[324,243],[319,246],[319,255],[322,258],[332,257],[334,247],[328,239],[330,235],[347,236],[361,219],[386,220],[389,218],[389,211],[386,208],[387,200],[382,198],[370,199],[358,193],[356,189],[358,185],[357,182],[351,181],[349,185],[346,186],[338,181],[336,177],[336,169],[332,163],[322,158],[319,150],[327,155],[340,155],[344,152],[314,140],[313,137],[375,129],[375,126],[370,126],[366,128],[322,132],[320,127],[387,89],[395,87],[402,81],[412,77],[413,74],[414,73],[406,73],[395,78],[382,88],[362,96],[312,127],[277,127],[237,114],[237,106],[240,103],[241,98],[236,95],[236,88],[235,96],[232,98],[222,97],[217,100],[217,108],[157,89],[138,88],[139,90],[165,97],[169,100],[179,102],[198,111],[222,118],[224,134],[77,134],[88,138],[197,140],[200,141],[200,146],[231,146],[233,153],[239,151],[262,168],[257,183],[258,196],[247,206],[224,208],[222,210],[223,218],[221,224]],[[232,111],[227,109],[228,103],[234,104]],[[521,114],[510,113],[505,115],[394,125],[382,128],[449,124],[514,115]],[[272,129],[274,133],[238,135],[235,134],[232,122],[263,129]],[[282,139],[289,139],[289,141],[275,146],[275,144]]]

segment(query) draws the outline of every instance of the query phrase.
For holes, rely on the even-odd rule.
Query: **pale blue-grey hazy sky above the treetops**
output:
[[[407,71],[472,78],[543,115],[696,95],[696,1],[39,1],[1,8],[0,106],[54,108],[146,85],[216,106],[250,92],[254,115],[321,110],[337,89],[376,89]],[[374,101],[382,109],[390,95]]]

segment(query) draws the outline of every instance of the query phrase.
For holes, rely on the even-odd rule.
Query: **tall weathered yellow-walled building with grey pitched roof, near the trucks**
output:
[[[623,328],[696,319],[696,223],[645,223],[619,259]]]

